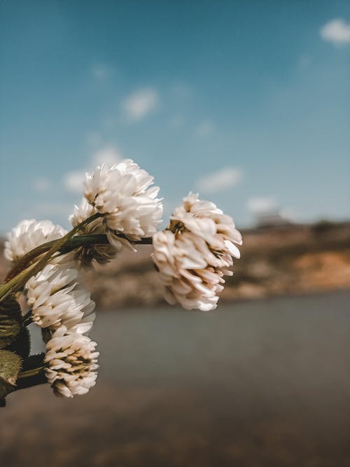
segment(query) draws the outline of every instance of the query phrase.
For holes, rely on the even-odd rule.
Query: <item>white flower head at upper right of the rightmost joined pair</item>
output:
[[[169,229],[174,232],[188,230],[202,237],[209,248],[223,258],[225,267],[232,265],[229,256],[240,257],[235,244],[242,244],[241,234],[233,219],[214,203],[199,200],[194,193],[183,198],[183,204],[174,210]]]

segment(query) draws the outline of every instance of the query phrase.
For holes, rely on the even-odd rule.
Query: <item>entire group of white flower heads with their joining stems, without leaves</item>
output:
[[[203,311],[217,306],[223,277],[232,275],[233,258],[239,258],[240,233],[230,216],[193,193],[174,210],[167,228],[157,231],[158,192],[153,177],[132,160],[103,164],[86,174],[83,200],[69,218],[71,231],[31,220],[8,234],[5,255],[15,263],[9,284],[19,278],[30,319],[43,329],[45,375],[59,396],[86,393],[97,379],[97,344],[87,335],[95,304],[83,285],[82,267],[104,265],[125,246],[136,251],[135,244],[152,242],[167,302]]]

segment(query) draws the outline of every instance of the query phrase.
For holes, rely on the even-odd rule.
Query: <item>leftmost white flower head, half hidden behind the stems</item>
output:
[[[5,242],[5,256],[10,261],[18,261],[22,256],[45,242],[57,240],[66,235],[66,230],[51,221],[21,221],[8,233]]]

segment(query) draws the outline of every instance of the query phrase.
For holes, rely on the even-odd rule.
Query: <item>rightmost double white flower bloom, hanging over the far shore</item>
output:
[[[216,308],[224,275],[232,275],[241,234],[214,203],[190,193],[171,216],[167,230],[153,236],[153,260],[165,286],[165,299],[186,309]]]

